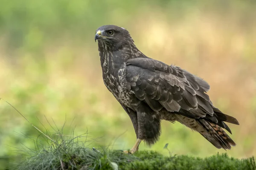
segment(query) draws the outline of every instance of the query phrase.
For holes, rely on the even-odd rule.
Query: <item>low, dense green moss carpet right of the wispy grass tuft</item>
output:
[[[167,157],[156,152],[138,152],[138,160],[121,165],[122,170],[255,170],[254,158],[234,159],[227,154],[217,154],[207,158],[191,156]]]

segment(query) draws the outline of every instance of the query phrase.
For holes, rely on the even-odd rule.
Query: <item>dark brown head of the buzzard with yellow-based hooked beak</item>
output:
[[[94,37],[95,42],[98,40],[99,50],[108,48],[110,51],[117,51],[127,45],[131,45],[134,41],[129,32],[122,27],[114,25],[101,26],[96,30]]]

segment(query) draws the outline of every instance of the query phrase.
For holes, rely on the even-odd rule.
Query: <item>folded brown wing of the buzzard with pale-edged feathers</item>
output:
[[[200,118],[213,116],[206,92],[209,84],[189,72],[151,58],[128,59],[126,81],[137,99],[154,111],[189,111]]]

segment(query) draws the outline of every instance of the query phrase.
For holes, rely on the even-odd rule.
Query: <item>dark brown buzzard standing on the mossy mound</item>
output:
[[[137,136],[129,153],[136,152],[142,140],[148,145],[157,142],[161,120],[180,122],[217,148],[236,145],[223,129],[231,133],[225,122],[239,122],[213,106],[206,81],[145,56],[125,28],[101,26],[96,40],[103,81],[128,113]]]

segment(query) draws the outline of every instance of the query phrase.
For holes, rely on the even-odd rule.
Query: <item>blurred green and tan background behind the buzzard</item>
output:
[[[236,158],[256,155],[256,1],[253,0],[0,0],[0,97],[33,125],[49,123],[64,134],[97,139],[90,146],[131,148],[128,115],[102,81],[99,26],[127,28],[149,57],[175,64],[209,82],[216,107],[236,117],[230,125]],[[49,123],[47,122],[49,121]],[[54,121],[54,122],[53,122]],[[55,126],[55,125],[54,125]],[[17,148],[39,135],[0,100],[0,168],[17,160]],[[218,150],[179,123],[162,122],[154,146],[173,154],[210,156]],[[20,157],[19,157],[20,159]]]

